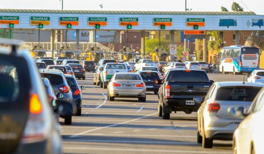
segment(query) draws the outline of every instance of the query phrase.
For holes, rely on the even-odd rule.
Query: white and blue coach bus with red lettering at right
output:
[[[229,72],[233,72],[234,75],[242,72],[251,73],[253,70],[259,69],[258,47],[232,45],[224,47],[220,54],[219,71],[223,74]]]

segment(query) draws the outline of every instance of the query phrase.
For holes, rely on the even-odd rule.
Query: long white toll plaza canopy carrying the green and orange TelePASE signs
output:
[[[264,30],[263,20],[264,15],[244,11],[0,9],[1,29],[193,30],[195,26],[199,30]]]

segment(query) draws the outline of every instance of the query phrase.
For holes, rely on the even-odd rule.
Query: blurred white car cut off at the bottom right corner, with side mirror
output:
[[[233,135],[233,153],[256,154],[263,153],[264,136],[264,89],[253,100],[249,110],[244,106],[235,107],[229,110],[234,117],[245,119],[240,123]]]

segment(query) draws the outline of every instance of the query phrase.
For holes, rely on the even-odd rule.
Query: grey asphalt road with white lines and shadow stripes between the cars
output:
[[[172,113],[170,120],[157,115],[158,97],[147,94],[145,103],[135,98],[107,100],[107,90],[92,84],[91,72],[82,91],[82,116],[73,116],[72,125],[60,119],[64,153],[232,153],[231,141],[214,140],[212,149],[196,142],[197,113]],[[209,74],[210,80],[243,81],[243,75]],[[247,77],[245,77],[247,79]]]

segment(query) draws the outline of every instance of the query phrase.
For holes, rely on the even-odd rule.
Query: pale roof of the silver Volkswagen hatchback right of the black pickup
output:
[[[264,83],[260,82],[242,82],[242,81],[227,81],[227,82],[215,82],[216,85],[220,87],[229,87],[229,86],[256,86],[263,87]]]

